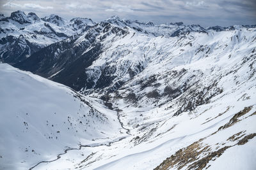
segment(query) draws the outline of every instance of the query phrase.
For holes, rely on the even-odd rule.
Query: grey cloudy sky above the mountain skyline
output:
[[[87,17],[94,21],[113,15],[156,24],[246,25],[256,24],[255,0],[0,0],[0,12],[35,12],[38,17],[52,13],[63,18]]]

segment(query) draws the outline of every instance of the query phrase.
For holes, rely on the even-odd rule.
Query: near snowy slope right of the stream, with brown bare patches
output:
[[[243,57],[198,60],[143,83],[131,80],[105,96],[129,136],[35,169],[255,169],[256,62],[255,55]]]

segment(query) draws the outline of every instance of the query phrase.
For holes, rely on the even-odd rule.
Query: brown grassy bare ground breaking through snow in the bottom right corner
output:
[[[226,129],[234,124],[236,122],[239,122],[240,120],[238,119],[239,117],[242,117],[246,113],[248,113],[250,110],[252,110],[252,106],[246,107],[243,110],[239,111],[236,113],[230,121],[221,126],[218,131],[222,129]],[[256,113],[252,113],[250,116],[255,115]],[[216,131],[216,132],[218,132]],[[216,134],[214,132],[213,134]],[[157,166],[154,170],[159,170],[159,169],[170,169],[170,168],[177,168],[177,169],[182,169],[185,166],[186,169],[206,169],[210,167],[211,165],[207,166],[210,160],[216,160],[216,158],[220,157],[225,150],[232,146],[236,145],[244,145],[245,143],[248,142],[248,140],[254,138],[256,136],[256,133],[253,134],[248,134],[245,136],[244,134],[245,131],[238,132],[237,134],[234,134],[230,136],[227,141],[238,141],[235,145],[231,146],[223,146],[225,143],[216,143],[216,145],[219,145],[217,147],[218,150],[216,151],[211,151],[210,146],[205,145],[202,143],[202,141],[205,138],[208,138],[209,136],[212,136],[213,134],[202,138],[195,143],[192,143],[191,145],[187,146],[186,148],[181,148],[177,152],[175,152],[171,157],[166,158],[159,166]],[[242,139],[241,139],[242,138]],[[222,146],[222,147],[221,147]]]

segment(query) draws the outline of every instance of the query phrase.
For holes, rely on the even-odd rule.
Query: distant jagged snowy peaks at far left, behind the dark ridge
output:
[[[20,62],[41,48],[86,31],[95,23],[89,18],[65,20],[58,15],[39,18],[15,11],[0,18],[0,59],[10,64]]]

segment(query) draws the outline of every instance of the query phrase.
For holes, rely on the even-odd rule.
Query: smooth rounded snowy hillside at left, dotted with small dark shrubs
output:
[[[0,169],[29,169],[122,136],[115,111],[97,101],[8,64],[0,64],[0,75]]]

